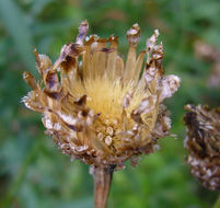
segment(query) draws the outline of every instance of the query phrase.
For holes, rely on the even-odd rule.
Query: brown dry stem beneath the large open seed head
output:
[[[106,208],[115,165],[107,167],[94,167],[94,207]]]

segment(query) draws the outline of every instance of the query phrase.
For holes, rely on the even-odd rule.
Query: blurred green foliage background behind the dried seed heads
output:
[[[134,23],[142,30],[139,49],[159,28],[164,69],[182,78],[181,89],[167,101],[177,139],[161,139],[161,150],[142,157],[139,166],[127,163],[116,172],[108,207],[210,208],[217,193],[202,188],[185,164],[183,107],[220,105],[219,89],[207,84],[212,62],[197,58],[194,49],[201,39],[220,50],[219,0],[0,0],[0,207],[93,207],[89,166],[62,155],[44,135],[40,115],[21,103],[30,90],[23,71],[38,77],[33,49],[55,60],[85,19],[90,34],[119,36],[124,57],[125,34]]]

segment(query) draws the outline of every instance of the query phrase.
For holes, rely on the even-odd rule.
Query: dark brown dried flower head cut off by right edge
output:
[[[185,147],[192,174],[209,189],[220,189],[220,108],[186,105]]]

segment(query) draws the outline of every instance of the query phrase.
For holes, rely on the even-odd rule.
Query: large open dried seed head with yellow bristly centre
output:
[[[33,91],[23,102],[43,114],[46,134],[63,153],[95,166],[121,166],[135,155],[155,151],[158,139],[169,135],[171,119],[162,102],[177,90],[180,79],[164,76],[158,31],[137,56],[140,27],[134,24],[124,62],[117,37],[88,37],[88,30],[82,22],[76,43],[65,45],[54,65],[35,50],[42,80],[24,73]]]

